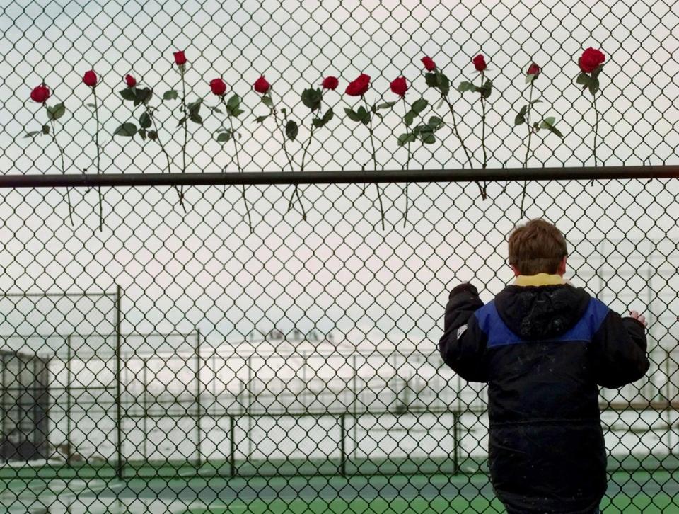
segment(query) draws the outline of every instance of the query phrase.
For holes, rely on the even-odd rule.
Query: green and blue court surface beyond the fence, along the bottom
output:
[[[69,478],[3,473],[0,506],[36,514],[504,513],[484,474],[117,481],[110,469],[99,471]],[[602,508],[605,514],[679,513],[679,472],[616,472]]]

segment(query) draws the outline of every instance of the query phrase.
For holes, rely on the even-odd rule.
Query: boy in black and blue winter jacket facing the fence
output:
[[[533,219],[509,236],[514,285],[484,305],[473,285],[451,291],[441,357],[488,383],[488,464],[509,514],[595,514],[606,491],[598,387],[649,369],[646,320],[621,318],[564,280],[566,239]]]

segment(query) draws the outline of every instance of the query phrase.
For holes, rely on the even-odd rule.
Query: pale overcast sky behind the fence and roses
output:
[[[450,5],[414,0],[305,1],[303,8],[287,0],[14,1],[0,13],[0,169],[61,172],[57,149],[48,137],[23,138],[45,122],[45,111],[28,100],[30,89],[45,80],[54,95],[48,103],[65,101],[68,110],[59,120],[57,135],[66,149],[67,173],[96,172],[95,125],[84,105],[92,97],[81,84],[83,72],[93,67],[102,77],[97,91],[103,98],[103,173],[166,171],[156,143],[111,136],[117,125],[141,114],[139,108],[131,113],[115,93],[124,87],[127,73],[153,87],[161,138],[173,155],[172,171],[179,173],[183,133],[176,128],[178,111],[171,110],[178,101],[160,101],[163,91],[180,87],[173,50],[185,50],[190,62],[189,100],[202,96],[206,104],[216,105],[208,86],[216,76],[224,77],[228,94],[235,91],[243,97],[239,145],[241,164],[248,171],[289,170],[272,120],[261,126],[253,120],[267,110],[251,88],[260,74],[273,84],[279,107],[283,101],[303,125],[303,141],[311,118],[299,102],[300,91],[327,74],[340,76],[340,87],[324,98],[324,109],[332,105],[336,117],[316,132],[306,169],[354,170],[370,159],[370,143],[364,126],[339,115],[345,106],[354,105],[343,94],[348,80],[360,72],[370,74],[367,99],[372,103],[380,97],[395,100],[389,81],[405,75],[412,83],[407,101],[424,96],[430,101],[424,115],[436,113],[450,124],[450,113],[437,108],[436,93],[426,90],[419,59],[433,57],[457,84],[478,81],[470,63],[478,52],[487,55],[487,75],[496,88],[487,117],[488,165],[522,164],[526,126],[515,129],[513,118],[528,98],[523,73],[531,59],[542,66],[535,82],[543,100],[536,104],[538,114],[554,115],[564,139],[540,132],[533,138],[535,154],[529,164],[591,165],[591,96],[574,84],[577,57],[588,46],[600,47],[607,57],[600,76],[603,93],[597,98],[604,113],[598,149],[603,163],[637,165],[648,159],[652,164],[679,164],[678,13],[671,3]],[[466,95],[460,98],[453,91],[451,98],[479,166],[480,105]],[[402,132],[402,109],[402,103],[397,104],[376,127],[379,167],[398,169],[405,164],[407,152],[395,144]],[[222,147],[214,140],[224,120],[207,111],[204,118],[202,126],[190,125],[187,171],[220,171],[225,166],[236,171],[231,142]],[[431,147],[412,145],[411,169],[463,165],[464,153],[451,127],[437,136],[441,140]],[[298,169],[302,143],[292,142],[289,148]],[[366,333],[375,342],[400,341],[407,333],[415,343],[433,348],[441,336],[451,286],[472,280],[488,300],[511,280],[504,263],[505,241],[521,219],[521,185],[510,183],[504,190],[504,184],[490,184],[489,200],[482,201],[475,184],[412,184],[414,204],[405,228],[403,185],[383,186],[385,231],[379,226],[375,185],[366,195],[361,195],[362,187],[303,188],[306,222],[298,211],[286,213],[291,189],[250,187],[254,234],[249,234],[236,188],[227,190],[224,198],[221,188],[187,190],[187,214],[171,188],[104,190],[101,233],[95,231],[94,190],[71,191],[76,227],[66,220],[64,190],[6,190],[1,193],[0,287],[6,293],[115,293],[115,285],[121,285],[123,331],[198,328],[211,345],[242,341],[255,327],[288,331],[296,325],[303,332],[335,331],[338,339],[347,336],[353,344],[361,343]],[[605,295],[617,309],[634,305],[643,310],[649,305],[644,289],[649,255],[665,268],[679,264],[671,253],[679,237],[679,187],[673,181],[532,183],[528,193],[528,217],[546,216],[567,234],[571,261],[577,263],[576,284],[598,292],[596,269],[605,258],[615,262],[610,267],[620,271],[606,279]],[[617,245],[617,261],[609,256],[611,246],[602,250],[592,243],[603,238],[623,240]],[[644,243],[649,250],[639,253],[637,262],[627,259],[634,241],[645,238],[660,242]],[[654,283],[656,299],[673,299],[679,287],[673,275]],[[632,295],[639,291],[641,298],[634,301]],[[669,301],[656,302],[656,316],[670,316]],[[36,314],[45,312],[41,307],[23,319],[28,307],[21,305],[7,307],[11,315],[1,324],[2,333],[107,332],[115,312],[104,298],[89,307],[77,304],[76,311],[86,314],[69,312],[73,309],[61,302],[47,309],[46,316]],[[663,324],[664,333],[675,321]]]

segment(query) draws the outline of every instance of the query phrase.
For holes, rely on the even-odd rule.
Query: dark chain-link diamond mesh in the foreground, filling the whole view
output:
[[[567,236],[575,285],[649,318],[649,373],[600,395],[602,508],[679,511],[679,185],[603,179],[599,168],[592,183],[528,183],[523,202],[528,132],[513,127],[532,59],[542,66],[540,111],[564,137],[538,132],[530,166],[679,164],[678,19],[663,1],[1,6],[0,163],[36,187],[1,196],[0,504],[16,513],[504,512],[487,479],[486,389],[443,367],[436,341],[448,290],[471,280],[492,299],[512,278],[506,236],[521,219],[545,217]],[[608,58],[597,163],[591,96],[574,84],[587,46]],[[217,76],[240,96],[238,161],[216,139],[224,113],[204,109],[200,122],[178,126],[182,99],[161,100],[182,88],[176,50],[189,59],[187,101],[219,108],[209,92]],[[431,55],[457,84],[472,79],[480,51],[494,68],[488,163],[510,178],[489,184],[485,200],[475,184],[417,177],[467,164],[419,59]],[[81,84],[91,68],[99,120]],[[364,127],[339,115],[355,108],[340,90],[360,72],[373,78],[370,103],[396,99],[388,84],[406,76],[408,103],[427,98],[424,115],[446,122],[437,143],[398,147],[399,103],[373,120],[373,152]],[[114,135],[149,112],[120,98],[127,73],[153,88],[157,139]],[[268,112],[252,91],[260,74],[298,121],[301,141],[286,149],[273,118],[254,120]],[[328,74],[340,76],[323,96],[335,118],[311,137],[300,93]],[[64,102],[66,114],[50,134],[25,138],[44,122],[28,102],[42,81],[48,105]],[[478,102],[454,105],[480,168]],[[292,188],[274,183],[182,188],[184,209],[172,187],[103,188],[98,230],[95,189],[68,190],[70,222],[67,190],[39,187],[44,173],[366,162],[412,170],[408,194],[400,183],[380,184],[379,198],[359,181],[301,185],[291,212]]]

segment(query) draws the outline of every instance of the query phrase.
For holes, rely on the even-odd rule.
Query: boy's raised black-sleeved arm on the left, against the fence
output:
[[[487,337],[474,316],[480,307],[483,302],[476,287],[464,283],[453,288],[439,341],[443,361],[470,382],[488,381],[484,364]]]

